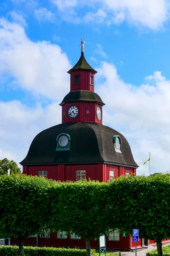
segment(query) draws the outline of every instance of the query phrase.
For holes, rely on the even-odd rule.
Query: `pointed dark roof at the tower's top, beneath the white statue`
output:
[[[81,56],[80,56],[78,62],[76,63],[76,65],[74,67],[71,68],[71,70],[68,71],[68,73],[71,74],[72,71],[77,71],[77,70],[87,70],[87,71],[93,72],[94,74],[97,73],[97,71],[94,70],[86,61],[84,52],[81,53]]]

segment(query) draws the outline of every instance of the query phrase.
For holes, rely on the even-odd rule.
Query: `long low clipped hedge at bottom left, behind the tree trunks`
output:
[[[24,246],[25,256],[86,256],[86,250],[78,248],[56,248],[56,247],[34,247]],[[19,255],[18,246],[0,245],[0,256]],[[95,250],[91,250],[91,255],[95,256]]]

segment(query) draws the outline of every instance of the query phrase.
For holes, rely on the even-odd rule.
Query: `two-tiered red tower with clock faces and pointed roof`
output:
[[[86,61],[84,52],[77,64],[68,71],[70,92],[64,97],[62,123],[96,122],[102,124],[102,99],[94,92],[94,75],[97,73]]]

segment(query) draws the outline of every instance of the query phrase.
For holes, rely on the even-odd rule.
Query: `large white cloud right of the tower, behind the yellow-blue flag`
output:
[[[170,81],[156,71],[149,76],[153,79],[150,84],[136,87],[122,81],[113,64],[103,62],[95,69],[97,93],[106,104],[104,124],[127,138],[138,164],[144,163],[151,152],[152,173],[170,170]],[[137,173],[148,174],[148,164]]]

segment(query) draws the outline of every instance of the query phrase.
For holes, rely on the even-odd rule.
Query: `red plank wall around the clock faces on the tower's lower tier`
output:
[[[72,105],[76,105],[79,108],[79,114],[74,119],[70,118],[67,114],[68,108]],[[102,124],[102,118],[101,120],[98,120],[96,116],[97,107],[100,107],[102,110],[102,105],[95,104],[95,103],[89,103],[89,102],[65,103],[62,106],[62,123],[96,122],[96,123]],[[89,113],[87,113],[87,110],[89,111]]]

